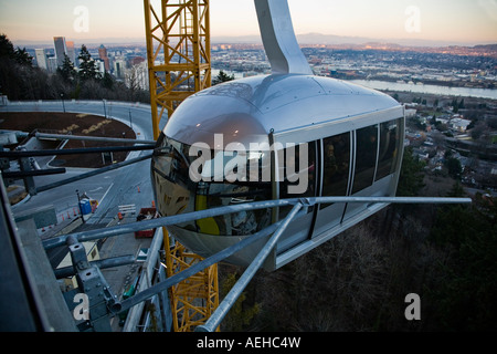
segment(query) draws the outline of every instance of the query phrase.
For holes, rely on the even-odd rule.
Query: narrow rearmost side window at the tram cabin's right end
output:
[[[400,143],[399,126],[399,119],[380,124],[380,154],[376,180],[380,180],[395,171]]]

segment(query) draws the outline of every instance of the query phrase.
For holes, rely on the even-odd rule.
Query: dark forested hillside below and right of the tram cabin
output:
[[[399,195],[433,192],[437,178],[408,149]],[[442,196],[465,195],[447,181]],[[282,269],[260,271],[223,330],[495,331],[496,201],[392,205]],[[224,282],[243,272],[221,269]],[[420,295],[420,321],[404,315],[410,293]]]

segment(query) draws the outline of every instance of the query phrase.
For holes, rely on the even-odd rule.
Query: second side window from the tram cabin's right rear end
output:
[[[356,171],[352,195],[372,185],[378,154],[378,125],[356,132]]]

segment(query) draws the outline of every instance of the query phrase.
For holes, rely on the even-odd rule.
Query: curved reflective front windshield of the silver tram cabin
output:
[[[154,191],[162,216],[272,199],[264,152],[199,149],[161,135],[152,158]],[[266,164],[267,162],[267,164]],[[242,211],[180,225],[190,231],[244,236],[271,223],[271,209]]]

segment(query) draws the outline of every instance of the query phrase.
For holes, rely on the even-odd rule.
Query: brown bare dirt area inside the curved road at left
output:
[[[102,136],[135,139],[136,135],[126,124],[102,116],[77,113],[47,112],[1,112],[0,129],[22,131],[32,133],[68,134],[83,136]],[[131,144],[129,144],[131,145]],[[121,143],[68,140],[64,148],[125,146]],[[127,152],[113,153],[114,162],[123,162]],[[108,165],[108,164],[107,164]],[[57,156],[53,167],[87,167],[105,166],[102,154],[80,154]]]

